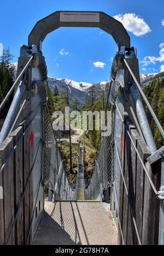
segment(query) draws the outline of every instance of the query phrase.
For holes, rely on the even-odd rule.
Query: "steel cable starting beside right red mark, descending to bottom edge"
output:
[[[132,219],[133,219],[133,223],[134,223],[134,228],[135,228],[135,230],[136,230],[137,240],[138,240],[139,245],[141,245],[140,237],[139,237],[139,232],[138,232],[138,229],[137,229],[136,220],[135,220],[135,218],[134,218],[133,210],[132,210],[132,208],[131,208],[130,198],[129,198],[129,194],[128,194],[128,191],[127,191],[127,187],[126,187],[126,182],[125,182],[124,174],[123,174],[122,167],[121,167],[121,160],[120,160],[120,156],[119,156],[119,152],[118,152],[118,146],[117,146],[117,144],[116,144],[116,141],[114,141],[114,142],[115,142],[116,153],[117,153],[118,160],[119,160],[119,166],[120,166],[120,171],[121,171],[121,175],[122,175],[122,180],[123,180],[123,182],[124,182],[125,191],[126,191],[126,195],[127,195],[127,198],[128,198],[128,204],[129,204],[129,206],[130,206],[130,211],[131,211],[131,215],[132,215]]]

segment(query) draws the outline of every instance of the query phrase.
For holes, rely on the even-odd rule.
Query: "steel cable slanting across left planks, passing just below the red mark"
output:
[[[39,145],[38,145],[38,148],[37,148],[37,152],[36,152],[36,155],[34,157],[34,161],[33,161],[33,164],[32,164],[32,167],[30,169],[30,172],[29,172],[29,175],[28,175],[28,178],[26,180],[26,185],[25,185],[25,188],[24,188],[24,192],[22,193],[22,196],[20,198],[20,201],[19,201],[19,205],[17,207],[17,210],[16,210],[16,214],[15,214],[15,217],[14,217],[14,221],[13,221],[13,224],[11,225],[11,229],[10,229],[10,232],[9,232],[9,235],[8,235],[8,239],[7,239],[7,242],[5,243],[6,245],[9,243],[10,241],[10,238],[11,238],[11,233],[13,232],[13,229],[14,229],[14,226],[15,226],[15,222],[17,220],[17,217],[19,215],[19,211],[20,211],[20,208],[21,208],[21,205],[22,203],[24,202],[24,197],[25,197],[25,193],[26,193],[26,190],[27,190],[27,186],[28,186],[28,183],[30,181],[30,178],[31,178],[31,174],[32,174],[32,171],[33,171],[33,168],[34,168],[34,164],[36,163],[36,159],[37,159],[37,155],[38,155],[38,152],[39,152],[39,148],[40,148],[40,142],[42,140],[39,140]]]

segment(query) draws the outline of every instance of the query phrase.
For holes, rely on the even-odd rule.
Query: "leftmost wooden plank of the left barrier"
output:
[[[13,138],[6,138],[0,146],[1,166],[6,163],[13,150]],[[13,154],[8,160],[8,164],[2,170],[3,184],[3,214],[4,214],[4,243],[7,242],[11,225],[14,221],[14,163]],[[3,225],[3,224],[2,224]],[[15,244],[15,230],[11,233],[9,244]],[[2,238],[3,239],[3,238]]]

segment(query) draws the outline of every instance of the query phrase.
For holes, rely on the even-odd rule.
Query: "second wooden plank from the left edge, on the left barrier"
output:
[[[13,137],[14,146],[17,143],[15,152],[14,152],[14,210],[15,214],[19,207],[20,199],[23,193],[23,148],[22,148],[22,127],[18,127],[15,131],[11,133],[11,137]],[[23,207],[21,204],[19,209],[19,215],[17,216],[17,220],[15,223],[15,244],[24,244],[24,216],[23,216]]]

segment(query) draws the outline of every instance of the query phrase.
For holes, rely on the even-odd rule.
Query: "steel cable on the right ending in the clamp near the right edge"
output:
[[[115,104],[115,105],[116,105],[116,104]],[[116,108],[117,108],[117,110],[118,110],[118,113],[119,113],[119,115],[120,115],[120,118],[121,118],[121,120],[122,120],[122,123],[123,123],[124,126],[125,126],[125,129],[126,129],[126,131],[127,131],[127,134],[128,134],[128,136],[130,137],[130,140],[131,140],[131,142],[132,142],[132,144],[133,144],[133,147],[134,147],[134,149],[135,149],[135,151],[136,151],[136,153],[137,153],[137,155],[138,155],[138,158],[139,158],[139,160],[140,160],[140,163],[141,163],[142,166],[143,166],[143,169],[144,169],[144,171],[145,171],[145,174],[146,174],[147,177],[148,177],[149,183],[150,183],[151,187],[153,188],[153,191],[154,191],[154,193],[156,194],[156,196],[158,196],[159,193],[157,192],[157,190],[156,190],[156,188],[155,188],[155,186],[154,186],[154,184],[153,184],[153,181],[151,180],[151,178],[150,178],[150,176],[149,176],[149,174],[148,174],[148,170],[147,170],[146,166],[144,165],[142,158],[140,157],[140,154],[139,154],[139,152],[138,152],[138,149],[136,148],[136,145],[134,144],[134,142],[133,142],[133,140],[132,140],[132,137],[131,137],[131,135],[130,135],[130,132],[128,131],[128,129],[127,129],[127,127],[126,127],[126,124],[125,124],[125,122],[124,122],[124,119],[122,118],[121,113],[120,113],[120,110],[119,110],[119,108],[118,108],[117,105],[116,105]]]

